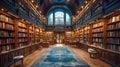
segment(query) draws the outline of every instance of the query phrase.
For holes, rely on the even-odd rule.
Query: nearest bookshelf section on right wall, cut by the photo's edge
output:
[[[107,49],[120,51],[120,14],[108,18]]]

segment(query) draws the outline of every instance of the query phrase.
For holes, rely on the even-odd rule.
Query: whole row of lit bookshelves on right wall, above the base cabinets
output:
[[[110,15],[111,16],[111,15]],[[79,33],[79,42],[107,47],[108,45],[120,45],[120,15],[112,15],[97,19],[96,21],[77,28]],[[88,29],[86,27],[89,27]],[[75,31],[75,33],[77,32]],[[108,47],[109,49],[118,50],[118,48]]]

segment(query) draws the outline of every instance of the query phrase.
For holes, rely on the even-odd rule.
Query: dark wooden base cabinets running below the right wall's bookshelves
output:
[[[120,52],[113,51],[110,49],[99,48],[91,45],[85,45],[82,43],[77,44],[81,49],[87,51],[88,48],[93,48],[97,51],[97,57],[109,64],[113,67],[120,67]]]

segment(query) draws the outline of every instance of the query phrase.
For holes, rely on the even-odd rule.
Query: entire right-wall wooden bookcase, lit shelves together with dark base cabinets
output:
[[[86,32],[86,25],[89,26],[89,33]],[[96,19],[95,21],[86,25],[77,29],[80,29],[80,41],[83,40],[84,42],[87,42],[86,37],[87,34],[89,34],[90,37],[87,38],[90,43],[80,42],[80,47],[86,51],[88,48],[95,49],[98,52],[99,59],[102,59],[115,67],[119,67],[120,10],[116,10],[111,14],[101,17],[100,19]]]

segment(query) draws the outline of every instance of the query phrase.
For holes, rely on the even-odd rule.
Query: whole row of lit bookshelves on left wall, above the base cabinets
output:
[[[11,15],[0,14],[0,53],[40,42],[40,28]],[[17,40],[16,40],[17,39]],[[15,47],[16,46],[16,47]]]

